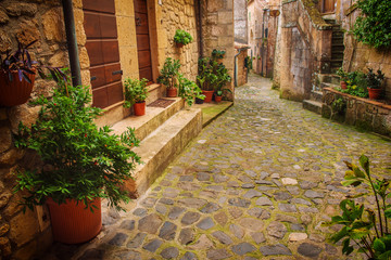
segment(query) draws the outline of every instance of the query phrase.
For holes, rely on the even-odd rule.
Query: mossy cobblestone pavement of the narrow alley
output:
[[[351,192],[343,160],[365,153],[386,174],[390,142],[249,80],[135,210],[75,259],[344,259],[327,243],[335,230],[320,226]]]

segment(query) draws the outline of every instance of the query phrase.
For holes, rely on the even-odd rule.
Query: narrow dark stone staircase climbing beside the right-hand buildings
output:
[[[303,108],[312,110],[317,114],[321,114],[323,104],[323,88],[333,88],[339,86],[339,77],[335,75],[338,68],[343,64],[343,31],[341,26],[336,24],[335,20],[325,20],[332,25],[332,38],[331,38],[331,74],[318,74],[316,75],[313,90],[311,91],[310,100],[303,101]]]

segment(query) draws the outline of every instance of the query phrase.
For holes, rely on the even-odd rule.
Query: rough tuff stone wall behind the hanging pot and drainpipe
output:
[[[83,82],[89,83],[89,60],[84,48],[86,37],[83,28],[81,0],[74,0],[76,35],[79,44]],[[30,54],[35,61],[47,66],[68,66],[63,13],[60,0],[1,1],[0,2],[0,53],[17,48],[16,39],[26,44],[38,40]],[[36,78],[31,98],[48,96],[55,86],[53,81]],[[20,168],[39,166],[36,155],[20,151],[12,134],[23,121],[30,125],[39,107],[23,104],[0,107],[0,249],[2,259],[29,259],[46,250],[52,243],[51,230],[45,220],[45,210],[23,213],[18,202],[22,194],[13,194],[15,173]],[[48,217],[48,216],[46,216]]]

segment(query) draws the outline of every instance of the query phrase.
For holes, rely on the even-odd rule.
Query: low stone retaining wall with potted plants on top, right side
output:
[[[391,105],[341,93],[330,88],[324,89],[321,116],[357,128],[391,136]],[[343,107],[333,104],[343,100]]]

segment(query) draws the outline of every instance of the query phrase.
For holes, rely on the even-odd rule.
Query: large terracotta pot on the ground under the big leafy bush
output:
[[[65,244],[79,244],[96,237],[102,227],[101,199],[94,198],[93,212],[83,202],[66,199],[58,205],[48,198],[53,239]]]

